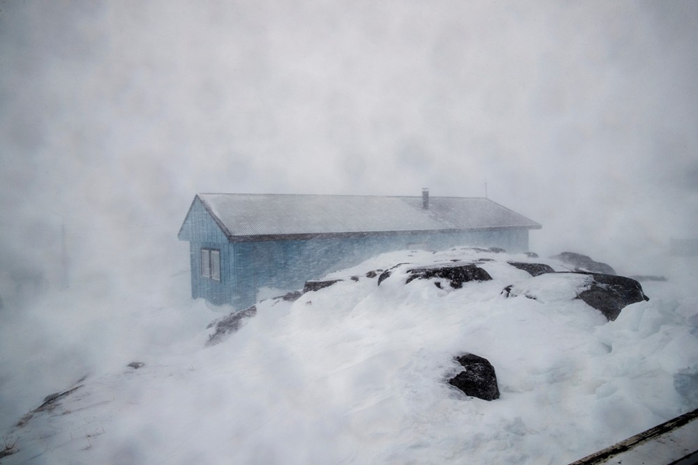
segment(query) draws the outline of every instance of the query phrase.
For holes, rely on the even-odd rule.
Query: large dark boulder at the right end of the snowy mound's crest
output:
[[[609,321],[614,321],[621,310],[631,303],[650,300],[642,292],[639,282],[630,277],[604,275],[601,273],[584,273],[593,276],[594,282],[589,289],[582,291],[579,298],[587,305],[604,314]]]

